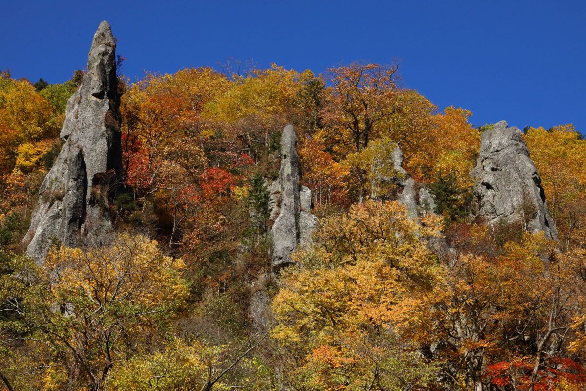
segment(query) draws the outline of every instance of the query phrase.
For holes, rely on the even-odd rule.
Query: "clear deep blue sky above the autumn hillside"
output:
[[[472,123],[586,132],[584,1],[26,1],[0,7],[0,69],[50,83],[85,67],[106,19],[131,80],[229,57],[322,73],[400,61],[405,86]]]

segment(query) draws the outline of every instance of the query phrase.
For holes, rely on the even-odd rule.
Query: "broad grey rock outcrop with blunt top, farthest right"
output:
[[[529,232],[543,231],[549,239],[557,239],[541,178],[518,128],[500,121],[482,134],[472,175],[479,213],[491,225],[499,220],[522,221]]]

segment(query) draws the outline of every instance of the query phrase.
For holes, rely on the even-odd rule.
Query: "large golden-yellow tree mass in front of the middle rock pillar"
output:
[[[407,335],[424,322],[425,291],[440,273],[421,240],[438,229],[431,221],[418,226],[397,202],[373,200],[320,222],[315,244],[297,253],[301,267],[283,272],[273,302],[272,335],[300,361],[292,384],[359,390],[373,378],[390,386],[397,373],[418,373],[413,384],[430,380],[431,367],[411,355]]]

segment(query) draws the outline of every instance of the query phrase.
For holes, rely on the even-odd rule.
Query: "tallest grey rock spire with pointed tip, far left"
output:
[[[108,22],[100,23],[88,55],[87,73],[67,101],[63,148],[39,189],[40,200],[24,242],[37,262],[52,242],[103,244],[112,226],[108,188],[120,175],[120,97],[116,44]]]

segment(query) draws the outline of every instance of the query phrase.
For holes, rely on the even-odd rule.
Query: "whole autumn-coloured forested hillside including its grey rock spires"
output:
[[[0,390],[586,389],[572,124],[397,64],[131,81],[115,42],[0,73]]]

